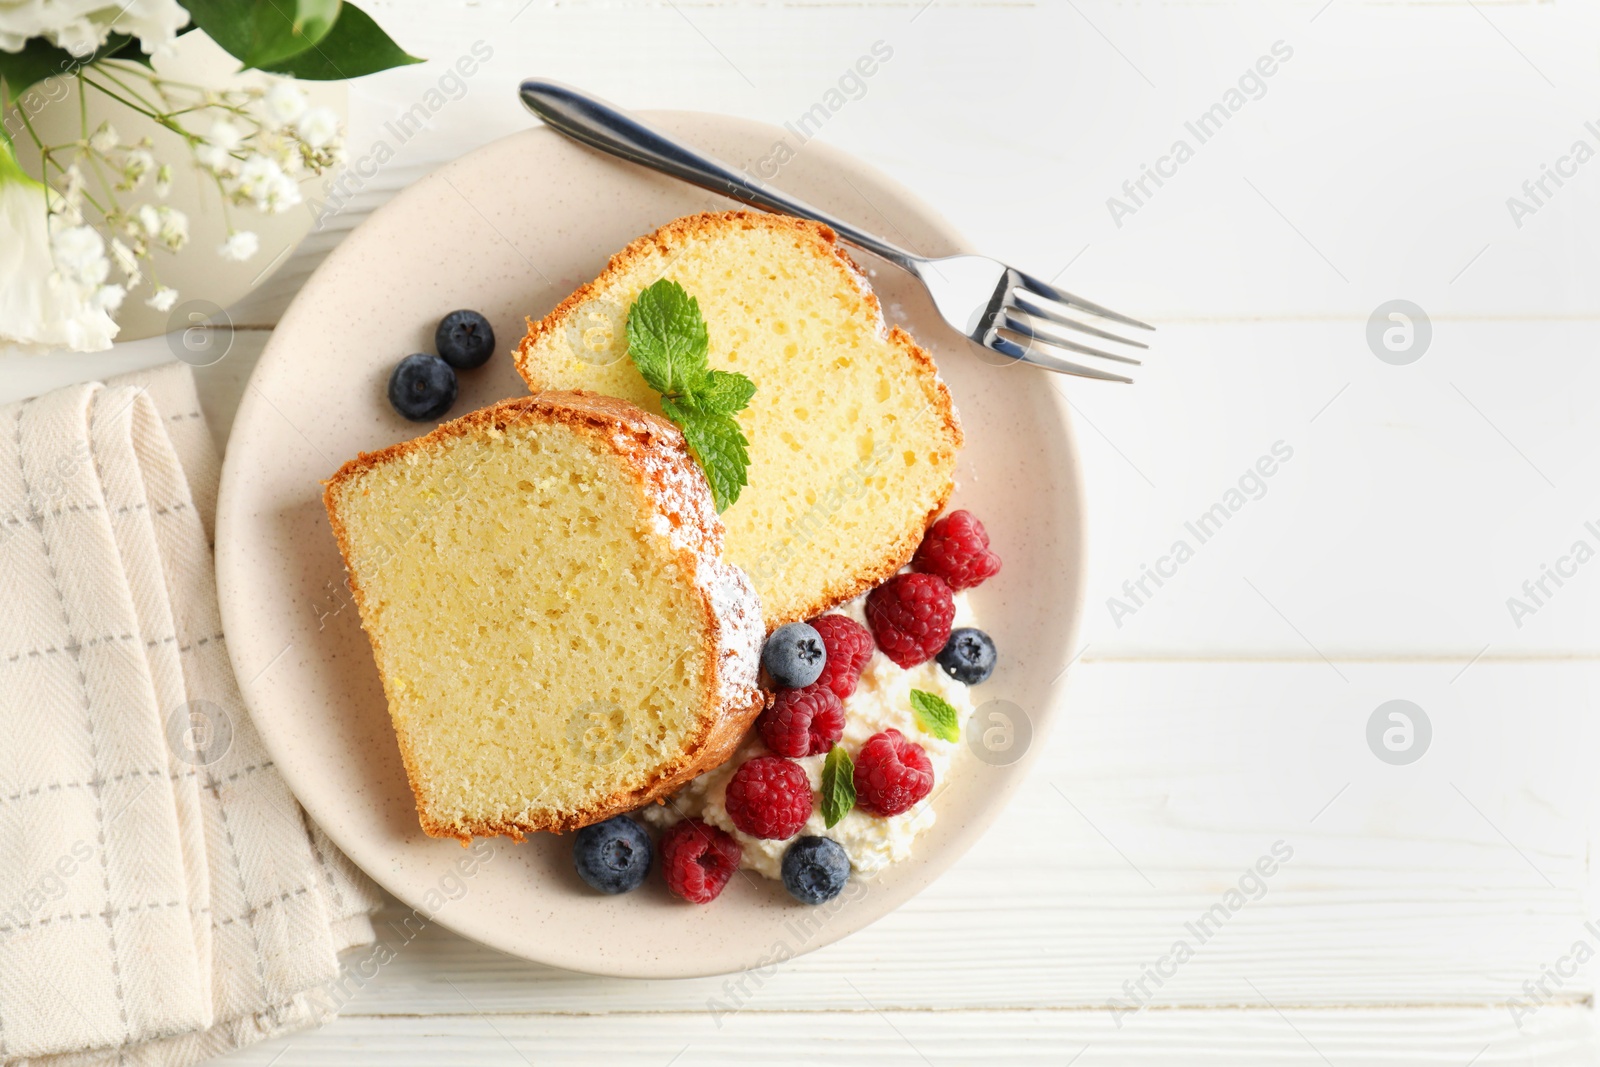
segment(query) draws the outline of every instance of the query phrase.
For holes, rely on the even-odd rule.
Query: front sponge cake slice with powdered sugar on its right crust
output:
[[[658,416],[509,400],[363,453],[323,502],[434,837],[637,808],[762,709],[760,605]]]

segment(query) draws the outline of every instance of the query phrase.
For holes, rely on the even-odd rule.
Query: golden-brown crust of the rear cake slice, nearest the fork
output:
[[[838,235],[832,227],[824,226],[822,222],[798,219],[787,214],[766,214],[760,211],[709,211],[674,219],[661,229],[629,242],[622,251],[611,256],[605,270],[602,270],[598,277],[581,285],[578,291],[557,304],[549,315],[538,322],[533,318],[526,320],[528,333],[517,346],[514,360],[517,363],[517,373],[522,374],[528,389],[538,394],[554,384],[541,373],[534,352],[549,336],[552,336],[557,330],[562,330],[568,318],[584,304],[603,294],[624,275],[632,272],[640,261],[658,254],[670,261],[686,242],[701,235],[725,232],[728,229],[765,229],[782,232],[808,245],[821,261],[832,262],[842,275],[845,275],[845,280],[861,291],[862,299],[877,318],[880,334],[899,349],[915,368],[917,376],[922,379],[925,395],[930,400],[928,413],[941,424],[946,438],[950,442],[950,451],[954,453],[962,448],[965,438],[962,434],[960,418],[955,413],[955,403],[950,398],[949,387],[944,384],[944,379],[939,378],[939,368],[934,363],[933,355],[899,326],[891,328],[885,325],[883,307],[878,302],[877,294],[872,293],[866,272],[838,245]],[[813,619],[830,608],[837,608],[842,603],[854,600],[910,563],[910,557],[917,552],[917,545],[922,544],[923,534],[944,510],[954,488],[954,478],[946,480],[942,491],[936,499],[928,501],[928,507],[923,510],[920,518],[909,522],[902,530],[896,531],[896,534],[890,539],[890,544],[882,547],[877,557],[866,558],[850,573],[835,576],[824,589],[821,589],[810,600],[803,601],[798,608],[770,614],[765,619],[766,632],[770,633],[786,622]]]

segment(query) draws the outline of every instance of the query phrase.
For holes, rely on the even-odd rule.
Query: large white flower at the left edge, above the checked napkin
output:
[[[0,19],[6,8],[0,6]],[[0,21],[0,27],[5,22]],[[104,240],[74,232],[58,234],[70,262],[53,262],[58,242],[50,235],[45,186],[29,178],[0,141],[0,346],[24,352],[101,352],[117,336],[117,323],[96,306],[96,285],[80,278],[104,278]],[[69,235],[70,234],[70,235]],[[101,240],[96,253],[94,242]]]

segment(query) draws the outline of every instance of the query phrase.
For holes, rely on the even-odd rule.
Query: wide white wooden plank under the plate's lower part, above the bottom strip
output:
[[[1147,981],[1134,1006],[1248,1005],[1253,981],[1306,1008],[1509,1014],[1525,979],[1595,941],[1589,825],[1566,814],[1584,808],[1594,731],[1565,755],[1547,742],[1582,718],[1600,672],[1490,664],[1456,691],[1414,667],[1339,669],[1349,683],[1325,664],[1075,667],[1070,713],[1008,817],[910,904],[776,968],[746,1003],[1094,1011],[1130,1003],[1123,984],[1184,941],[1192,958],[1163,963],[1176,973]],[[1395,693],[1434,723],[1410,766],[1365,739]],[[1264,856],[1282,862],[1246,877]],[[1245,899],[1230,899],[1242,880]],[[470,891],[450,907],[470,909]],[[440,929],[406,937],[400,917],[381,925],[394,963],[352,1009],[450,1013],[466,995],[491,1013],[693,1013],[738,998],[738,979],[581,977]],[[1587,1001],[1597,976],[1566,979],[1560,1000]]]

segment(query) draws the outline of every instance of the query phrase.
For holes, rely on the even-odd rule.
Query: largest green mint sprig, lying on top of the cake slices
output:
[[[661,394],[661,411],[683,430],[706,472],[717,510],[728,510],[749,485],[750,442],[734,413],[755,395],[738,371],[714,371],[699,301],[677,282],[656,282],[627,309],[627,354],[645,384]]]

